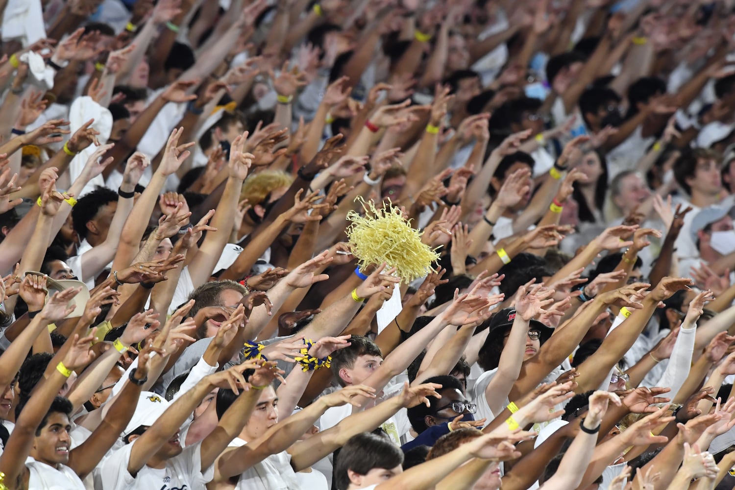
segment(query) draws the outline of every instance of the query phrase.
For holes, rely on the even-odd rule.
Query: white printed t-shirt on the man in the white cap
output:
[[[133,445],[114,451],[95,472],[98,490],[204,490],[215,475],[214,465],[201,468],[201,442],[185,448],[181,454],[166,461],[162,469],[143,466],[133,478],[127,470]]]

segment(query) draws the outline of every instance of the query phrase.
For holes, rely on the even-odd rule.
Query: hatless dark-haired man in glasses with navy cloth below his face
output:
[[[431,447],[445,433],[465,425],[462,422],[482,427],[484,419],[475,421],[477,406],[467,401],[464,386],[457,378],[451,375],[434,376],[424,382],[442,385],[442,388],[437,390],[442,397],[429,397],[429,406],[421,403],[408,409],[411,427],[419,436],[401,446],[402,450],[407,451],[421,445]],[[458,422],[453,422],[457,417],[462,418]]]

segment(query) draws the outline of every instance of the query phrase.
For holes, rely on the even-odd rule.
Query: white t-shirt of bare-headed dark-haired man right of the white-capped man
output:
[[[239,437],[229,447],[243,447],[247,442]],[[150,487],[151,489],[153,487]],[[291,467],[291,455],[286,451],[271,454],[258,464],[246,469],[237,479],[236,490],[301,490],[296,473]]]

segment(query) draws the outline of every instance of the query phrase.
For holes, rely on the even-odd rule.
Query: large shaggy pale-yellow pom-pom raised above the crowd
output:
[[[351,211],[347,236],[352,253],[361,268],[385,262],[395,267],[404,283],[431,273],[431,264],[439,253],[421,242],[421,232],[411,228],[401,209],[385,203],[376,209],[372,202],[360,199],[365,216]]]

